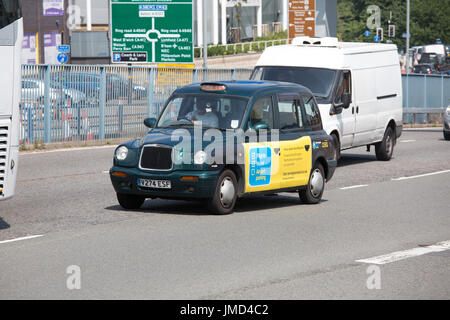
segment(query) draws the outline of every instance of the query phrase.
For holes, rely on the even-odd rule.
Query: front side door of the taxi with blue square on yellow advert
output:
[[[276,135],[272,135],[274,99],[272,95],[259,97],[250,110],[246,126],[249,137],[244,143],[246,193],[280,188],[280,150]]]

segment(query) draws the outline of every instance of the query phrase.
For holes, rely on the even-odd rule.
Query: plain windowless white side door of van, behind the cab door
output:
[[[377,69],[354,70],[355,139],[353,146],[363,146],[373,142],[377,126],[378,102],[376,98]]]

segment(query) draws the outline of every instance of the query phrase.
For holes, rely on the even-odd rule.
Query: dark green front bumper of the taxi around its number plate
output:
[[[117,172],[126,176],[118,177],[113,175],[113,173]],[[213,197],[220,171],[147,172],[137,168],[114,166],[110,169],[109,176],[117,193],[133,194],[147,198],[206,199]],[[182,177],[198,177],[198,180],[182,181]],[[170,180],[171,189],[143,188],[138,186],[138,179]]]

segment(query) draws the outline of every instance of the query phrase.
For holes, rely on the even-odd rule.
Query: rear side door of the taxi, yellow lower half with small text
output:
[[[280,188],[308,184],[312,166],[312,141],[305,121],[303,99],[296,93],[283,93],[277,99],[279,128]]]

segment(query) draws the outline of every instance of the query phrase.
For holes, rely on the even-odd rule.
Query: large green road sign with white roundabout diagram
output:
[[[193,63],[192,0],[111,0],[116,63]]]

